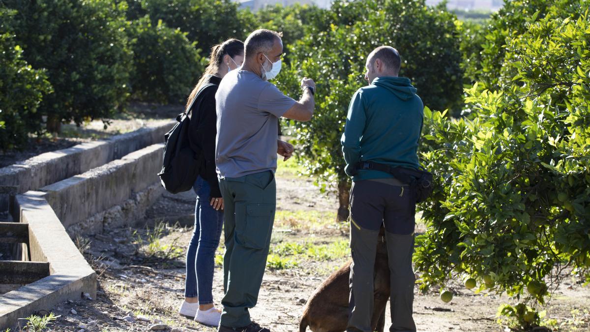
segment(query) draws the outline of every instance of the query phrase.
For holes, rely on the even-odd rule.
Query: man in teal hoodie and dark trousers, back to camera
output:
[[[382,225],[391,272],[389,331],[416,330],[412,318],[415,190],[386,169],[418,169],[424,105],[410,80],[398,77],[400,66],[393,47],[378,47],[369,54],[365,74],[369,85],[352,97],[342,135],[345,171],[353,181],[349,332],[373,331],[373,267]]]

